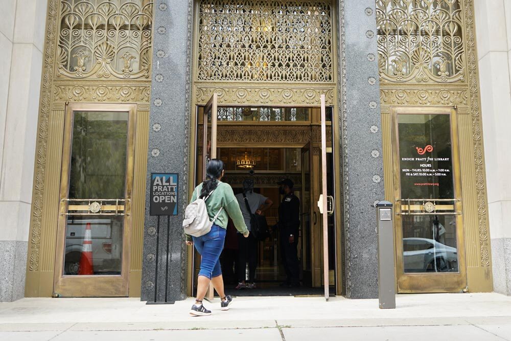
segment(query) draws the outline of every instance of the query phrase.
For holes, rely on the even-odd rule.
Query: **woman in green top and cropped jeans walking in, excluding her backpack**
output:
[[[221,310],[228,310],[229,304],[233,298],[225,295],[222,268],[220,265],[220,254],[225,241],[225,233],[227,228],[227,221],[230,216],[236,229],[243,234],[245,238],[248,237],[249,232],[245,225],[245,220],[240,211],[238,200],[234,196],[233,189],[221,179],[224,176],[224,164],[221,160],[212,159],[206,166],[206,179],[202,184],[197,186],[193,192],[192,200],[197,198],[206,199],[207,215],[210,219],[214,219],[215,215],[223,208],[218,214],[218,217],[213,221],[211,231],[200,237],[193,237],[193,245],[201,255],[200,271],[197,279],[197,297],[195,304],[190,310],[190,314],[194,316],[211,315],[211,311],[204,308],[202,300],[206,294],[210,282],[213,283],[215,290],[220,295]],[[187,245],[192,245],[190,236],[187,236]]]

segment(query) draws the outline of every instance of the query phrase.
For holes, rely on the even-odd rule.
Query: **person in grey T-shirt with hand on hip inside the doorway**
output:
[[[243,193],[237,194],[236,198],[238,199],[238,203],[240,205],[241,213],[243,213],[243,218],[245,219],[245,224],[247,225],[248,230],[251,230],[250,226],[250,216],[252,214],[262,214],[266,210],[268,210],[273,201],[269,198],[259,194],[254,193],[254,180],[251,178],[247,178],[243,180]],[[248,208],[245,202],[245,198],[248,201]],[[248,210],[250,209],[250,211]],[[243,238],[243,236],[238,233],[238,286],[236,289],[255,289],[255,270],[257,269],[258,263],[258,245],[259,242],[255,239],[253,233],[251,233],[248,238]],[[248,261],[248,283],[245,282],[245,268]]]

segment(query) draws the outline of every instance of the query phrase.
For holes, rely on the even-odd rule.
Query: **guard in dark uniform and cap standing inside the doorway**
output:
[[[298,231],[300,228],[300,199],[293,194],[294,183],[291,179],[278,182],[280,193],[284,195],[278,208],[277,228],[281,236],[281,255],[286,282],[281,286],[300,286],[298,267]]]

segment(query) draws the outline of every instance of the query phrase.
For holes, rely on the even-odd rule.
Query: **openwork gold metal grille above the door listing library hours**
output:
[[[377,0],[380,79],[465,80],[459,0]]]

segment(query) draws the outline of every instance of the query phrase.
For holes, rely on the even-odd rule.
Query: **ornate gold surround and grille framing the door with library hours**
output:
[[[454,107],[468,289],[492,290],[473,0],[376,0],[386,196],[391,108]]]

